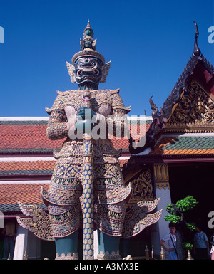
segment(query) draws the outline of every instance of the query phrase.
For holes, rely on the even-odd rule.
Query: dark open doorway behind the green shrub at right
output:
[[[208,227],[208,214],[214,211],[214,163],[169,165],[170,194],[172,203],[190,195],[199,202],[189,211],[188,221],[200,222],[208,238],[213,229]]]

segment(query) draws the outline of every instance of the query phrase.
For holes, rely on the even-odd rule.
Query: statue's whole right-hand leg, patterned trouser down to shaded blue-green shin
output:
[[[119,242],[131,196],[131,189],[124,185],[119,164],[96,167],[95,190],[98,259],[119,259]]]

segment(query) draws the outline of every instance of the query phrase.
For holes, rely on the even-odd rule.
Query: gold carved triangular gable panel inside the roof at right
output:
[[[195,80],[165,125],[165,132],[214,132],[214,101]]]

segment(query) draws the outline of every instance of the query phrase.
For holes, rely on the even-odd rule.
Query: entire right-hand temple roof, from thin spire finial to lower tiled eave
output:
[[[196,23],[195,23],[196,26]],[[145,164],[214,162],[214,68],[197,44],[159,110],[150,99],[153,122],[143,147],[131,147],[125,181]]]

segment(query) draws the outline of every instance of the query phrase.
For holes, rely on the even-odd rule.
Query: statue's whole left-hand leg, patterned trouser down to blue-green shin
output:
[[[56,164],[48,191],[41,196],[49,207],[56,259],[77,259],[78,228],[80,227],[82,186],[80,166]]]

